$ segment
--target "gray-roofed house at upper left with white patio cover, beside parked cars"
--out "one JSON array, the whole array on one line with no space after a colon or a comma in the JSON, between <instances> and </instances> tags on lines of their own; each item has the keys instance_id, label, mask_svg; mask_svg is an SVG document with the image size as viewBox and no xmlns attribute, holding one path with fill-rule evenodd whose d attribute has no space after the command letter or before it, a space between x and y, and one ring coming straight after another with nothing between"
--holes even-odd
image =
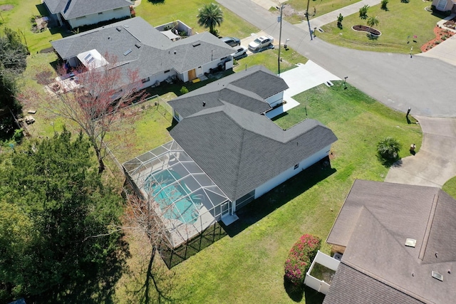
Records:
<instances>
[{"instance_id":1,"label":"gray-roofed house at upper left with white patio cover, beside parked cars","mask_svg":"<svg viewBox=\"0 0 456 304\"><path fill-rule=\"evenodd\" d=\"M174 78L187 82L215 68L232 68L233 64L233 49L211 33L170 39L140 17L52 41L51 44L58 56L72 67L86 65L90 68L93 62L103 64L105 54L115 56L118 68L125 75L129 70L138 70L142 88Z\"/></svg>"}]
</instances>

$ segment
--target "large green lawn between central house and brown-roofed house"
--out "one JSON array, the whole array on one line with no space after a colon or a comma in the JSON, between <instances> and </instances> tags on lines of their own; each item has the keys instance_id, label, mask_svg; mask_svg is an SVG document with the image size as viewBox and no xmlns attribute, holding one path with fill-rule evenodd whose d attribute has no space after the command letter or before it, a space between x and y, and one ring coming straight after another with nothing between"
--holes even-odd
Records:
<instances>
[{"instance_id":1,"label":"large green lawn between central house and brown-roofed house","mask_svg":"<svg viewBox=\"0 0 456 304\"><path fill-rule=\"evenodd\" d=\"M422 136L420 126L409 125L404 113L390 110L351 86L343 90L341 82L335 84L296 95L302 105L275 121L280 127L291 127L311 117L331 127L338 136L331 149L332 168L317 165L311 172L301 172L239 210L239 220L226 229L229 236L178 264L171 269L172 275L159 282L172 285L165 294L168 299L180 303L321 303L323 297L311 290L297 299L286 293L284 261L289 249L305 233L326 239L354 179L384 180L388 167L377 158L378 140L393 136L407 147L410 142L421 142ZM402 157L408 153L404 150ZM321 251L329 250L323 244ZM119 293L125 293L125 287L120 289ZM119 298L118 303L128 300Z\"/></svg>"}]
</instances>

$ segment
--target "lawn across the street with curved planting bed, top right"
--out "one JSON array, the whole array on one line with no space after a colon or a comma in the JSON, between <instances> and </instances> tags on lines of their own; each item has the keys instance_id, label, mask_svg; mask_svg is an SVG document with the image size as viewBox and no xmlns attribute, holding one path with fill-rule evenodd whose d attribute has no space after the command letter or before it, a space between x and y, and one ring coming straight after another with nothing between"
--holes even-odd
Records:
<instances>
[{"instance_id":1,"label":"lawn across the street with curved planting bed, top right","mask_svg":"<svg viewBox=\"0 0 456 304\"><path fill-rule=\"evenodd\" d=\"M322 26L325 32L318 33L318 37L328 43L363 51L410 53L413 47L412 53L420 53L420 47L435 38L433 28L442 19L425 11L429 5L427 1L390 1L388 11L380 9L380 4L372 6L368 9L368 16L377 16L379 23L374 28L381 32L381 36L375 39L368 38L366 32L351 28L366 26L366 20L360 19L358 12L343 16L343 29L337 27L337 21Z\"/></svg>"}]
</instances>

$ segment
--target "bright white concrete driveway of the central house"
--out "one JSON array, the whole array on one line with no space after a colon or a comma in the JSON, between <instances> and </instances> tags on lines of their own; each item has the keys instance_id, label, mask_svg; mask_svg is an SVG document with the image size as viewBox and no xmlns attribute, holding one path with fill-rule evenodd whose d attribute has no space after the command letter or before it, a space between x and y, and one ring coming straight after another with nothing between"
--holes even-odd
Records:
<instances>
[{"instance_id":1,"label":"bright white concrete driveway of the central house","mask_svg":"<svg viewBox=\"0 0 456 304\"><path fill-rule=\"evenodd\" d=\"M266 117L268 118L276 117L277 115L298 106L299 103L294 100L292 96L298 95L299 93L323 83L330 85L331 81L341 80L341 78L328 72L328 70L321 68L321 66L314 63L314 61L307 61L305 64L297 63L296 68L281 73L280 77L285 80L286 84L289 86L284 92L284 101L286 101L286 103L274 110L266 112Z\"/></svg>"}]
</instances>

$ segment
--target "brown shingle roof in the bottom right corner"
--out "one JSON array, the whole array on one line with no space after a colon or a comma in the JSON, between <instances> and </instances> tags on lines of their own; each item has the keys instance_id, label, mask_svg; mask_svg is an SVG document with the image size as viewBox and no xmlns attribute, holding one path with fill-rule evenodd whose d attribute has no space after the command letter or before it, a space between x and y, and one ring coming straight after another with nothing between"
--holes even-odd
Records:
<instances>
[{"instance_id":1,"label":"brown shingle roof in the bottom right corner","mask_svg":"<svg viewBox=\"0 0 456 304\"><path fill-rule=\"evenodd\" d=\"M324 303L343 303L363 288L415 299L375 303L453 303L456 278L447 271L456 266L455 212L455 199L439 188L356 180L327 239L346 246L341 265L353 271L338 269ZM415 247L405 246L408 238ZM356 280L364 285L347 283Z\"/></svg>"}]
</instances>

